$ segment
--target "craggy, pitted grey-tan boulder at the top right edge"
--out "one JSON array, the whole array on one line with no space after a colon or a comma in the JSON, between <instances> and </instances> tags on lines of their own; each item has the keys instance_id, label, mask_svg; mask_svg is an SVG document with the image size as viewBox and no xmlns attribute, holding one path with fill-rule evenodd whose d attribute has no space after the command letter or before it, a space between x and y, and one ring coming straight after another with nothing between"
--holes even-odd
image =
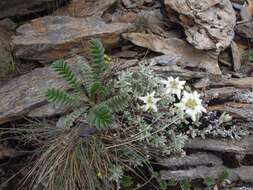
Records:
<instances>
[{"instance_id":1,"label":"craggy, pitted grey-tan boulder at the top right edge","mask_svg":"<svg viewBox=\"0 0 253 190\"><path fill-rule=\"evenodd\" d=\"M234 38L235 12L229 0L164 0L168 17L182 25L198 49L223 50Z\"/></svg>"}]
</instances>

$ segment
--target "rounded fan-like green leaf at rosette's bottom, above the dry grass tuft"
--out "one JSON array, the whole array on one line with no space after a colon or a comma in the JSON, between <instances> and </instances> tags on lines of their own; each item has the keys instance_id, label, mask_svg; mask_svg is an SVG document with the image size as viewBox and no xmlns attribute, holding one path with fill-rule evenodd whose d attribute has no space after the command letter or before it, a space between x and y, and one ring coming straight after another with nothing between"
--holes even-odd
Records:
<instances>
[{"instance_id":1,"label":"rounded fan-like green leaf at rosette's bottom, above the dry grass tuft","mask_svg":"<svg viewBox=\"0 0 253 190\"><path fill-rule=\"evenodd\" d=\"M91 109L88 115L88 122L90 125L95 125L97 129L105 129L112 124L112 113L106 104L96 105Z\"/></svg>"}]
</instances>

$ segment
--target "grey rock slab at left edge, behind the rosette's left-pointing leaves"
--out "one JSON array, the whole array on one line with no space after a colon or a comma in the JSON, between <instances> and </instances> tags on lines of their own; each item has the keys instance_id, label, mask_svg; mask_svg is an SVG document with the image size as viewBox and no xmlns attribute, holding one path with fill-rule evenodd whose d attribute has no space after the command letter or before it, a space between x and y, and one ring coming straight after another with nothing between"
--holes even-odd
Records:
<instances>
[{"instance_id":1,"label":"grey rock slab at left edge, behind the rosette's left-pointing leaves","mask_svg":"<svg viewBox=\"0 0 253 190\"><path fill-rule=\"evenodd\" d=\"M86 60L76 56L66 61L78 75L77 64ZM47 105L45 92L49 88L70 89L51 67L35 69L0 86L0 124L29 114L45 117L59 113L58 108Z\"/></svg>"}]
</instances>

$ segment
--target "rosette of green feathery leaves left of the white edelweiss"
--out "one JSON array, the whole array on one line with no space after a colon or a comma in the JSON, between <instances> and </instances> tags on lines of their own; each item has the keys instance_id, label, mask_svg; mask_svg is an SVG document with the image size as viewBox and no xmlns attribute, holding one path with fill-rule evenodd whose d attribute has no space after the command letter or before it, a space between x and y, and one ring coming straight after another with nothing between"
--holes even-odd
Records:
<instances>
[{"instance_id":1,"label":"rosette of green feathery leaves left of the white edelweiss","mask_svg":"<svg viewBox=\"0 0 253 190\"><path fill-rule=\"evenodd\" d=\"M79 80L64 60L53 63L54 71L72 88L73 93L61 89L49 89L47 100L51 103L69 106L73 112L66 116L65 127L72 127L78 118L96 129L106 129L113 123L115 113L128 105L125 95L115 94L113 80L108 80L110 59L98 39L90 40L90 64L81 63L82 79Z\"/></svg>"}]
</instances>

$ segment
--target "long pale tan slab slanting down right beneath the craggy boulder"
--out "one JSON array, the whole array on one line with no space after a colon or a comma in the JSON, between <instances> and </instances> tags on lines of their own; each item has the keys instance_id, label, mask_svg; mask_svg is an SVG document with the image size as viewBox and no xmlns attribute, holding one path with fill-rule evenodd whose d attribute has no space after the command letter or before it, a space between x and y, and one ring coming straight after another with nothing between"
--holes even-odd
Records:
<instances>
[{"instance_id":1,"label":"long pale tan slab slanting down right beneath the craggy boulder","mask_svg":"<svg viewBox=\"0 0 253 190\"><path fill-rule=\"evenodd\" d=\"M197 50L179 38L161 38L143 33L125 33L123 37L135 45L167 55L167 64L202 68L212 74L221 74L218 55L210 51ZM165 60L164 60L165 62Z\"/></svg>"}]
</instances>

